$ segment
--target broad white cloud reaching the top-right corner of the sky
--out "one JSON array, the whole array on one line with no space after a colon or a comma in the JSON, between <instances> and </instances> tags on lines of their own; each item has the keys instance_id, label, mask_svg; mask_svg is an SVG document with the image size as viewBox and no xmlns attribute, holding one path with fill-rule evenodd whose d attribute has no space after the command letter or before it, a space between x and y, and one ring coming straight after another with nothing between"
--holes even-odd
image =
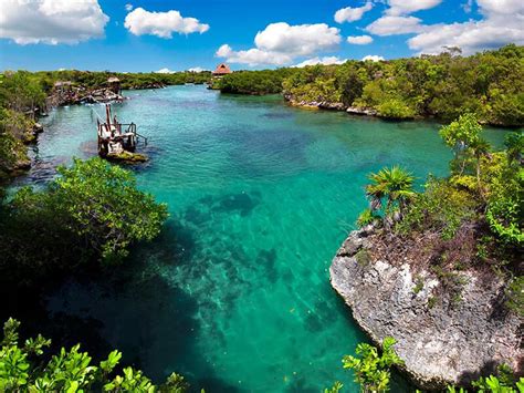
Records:
<instances>
[{"instance_id":1,"label":"broad white cloud reaching the top-right corner of the sky","mask_svg":"<svg viewBox=\"0 0 524 393\"><path fill-rule=\"evenodd\" d=\"M459 46L464 54L507 43L524 44L524 1L478 0L483 20L433 24L408 40L419 53L440 53L442 46Z\"/></svg>"}]
</instances>

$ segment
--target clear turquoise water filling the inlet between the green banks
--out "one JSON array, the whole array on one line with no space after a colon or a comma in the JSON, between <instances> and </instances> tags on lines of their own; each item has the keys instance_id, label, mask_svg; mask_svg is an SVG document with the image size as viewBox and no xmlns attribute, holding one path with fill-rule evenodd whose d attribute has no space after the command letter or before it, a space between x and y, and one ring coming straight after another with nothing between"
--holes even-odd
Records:
<instances>
[{"instance_id":1,"label":"clear turquoise water filling the inlet between the green banks","mask_svg":"<svg viewBox=\"0 0 524 393\"><path fill-rule=\"evenodd\" d=\"M339 380L356 392L340 359L366 339L331 289L328 266L366 207L369 172L400 164L420 183L447 173L438 126L202 86L128 95L114 105L119 120L149 136L139 187L171 217L116 272L69 281L49 312L66 316L76 335L96 332L104 350L120 349L157 381L177 371L209 392L319 392ZM21 182L42 184L56 164L94 155L94 111L103 106L46 117ZM503 133L486 136L500 144Z\"/></svg>"}]
</instances>

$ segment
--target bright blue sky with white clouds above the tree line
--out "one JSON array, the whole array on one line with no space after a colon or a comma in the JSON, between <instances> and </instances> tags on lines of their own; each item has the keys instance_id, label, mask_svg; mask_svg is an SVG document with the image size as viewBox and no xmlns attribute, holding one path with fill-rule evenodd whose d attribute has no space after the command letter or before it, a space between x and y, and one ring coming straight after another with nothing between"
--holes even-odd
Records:
<instances>
[{"instance_id":1,"label":"bright blue sky with white clouds above the tree line","mask_svg":"<svg viewBox=\"0 0 524 393\"><path fill-rule=\"evenodd\" d=\"M0 0L0 6L1 70L178 71L212 69L221 61L233 70L262 69L395 59L436 53L442 45L469 54L524 43L522 0L31 0L29 6Z\"/></svg>"}]
</instances>

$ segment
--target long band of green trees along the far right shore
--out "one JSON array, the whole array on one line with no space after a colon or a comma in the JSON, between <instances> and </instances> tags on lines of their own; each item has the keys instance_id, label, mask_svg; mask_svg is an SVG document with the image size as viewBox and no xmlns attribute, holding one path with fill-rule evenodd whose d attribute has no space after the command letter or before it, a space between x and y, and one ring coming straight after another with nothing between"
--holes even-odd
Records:
<instances>
[{"instance_id":1,"label":"long band of green trees along the far right shore","mask_svg":"<svg viewBox=\"0 0 524 393\"><path fill-rule=\"evenodd\" d=\"M483 123L523 125L524 46L467 58L458 53L233 73L219 86L228 93L282 92L295 103L342 104L389 118L452 120L473 113Z\"/></svg>"}]
</instances>

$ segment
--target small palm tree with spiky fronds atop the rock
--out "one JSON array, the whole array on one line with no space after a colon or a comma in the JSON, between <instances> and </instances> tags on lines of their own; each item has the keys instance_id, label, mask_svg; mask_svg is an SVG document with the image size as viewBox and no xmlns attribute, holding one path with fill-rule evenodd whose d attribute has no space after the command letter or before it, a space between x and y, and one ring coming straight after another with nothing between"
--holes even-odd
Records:
<instances>
[{"instance_id":1,"label":"small palm tree with spiky fronds atop the rock","mask_svg":"<svg viewBox=\"0 0 524 393\"><path fill-rule=\"evenodd\" d=\"M370 199L371 210L380 209L382 199L386 198L386 215L395 204L398 204L401 214L408 200L415 195L412 189L415 177L399 166L382 168L376 174L370 174L369 179L371 184L366 186L366 195Z\"/></svg>"}]
</instances>

